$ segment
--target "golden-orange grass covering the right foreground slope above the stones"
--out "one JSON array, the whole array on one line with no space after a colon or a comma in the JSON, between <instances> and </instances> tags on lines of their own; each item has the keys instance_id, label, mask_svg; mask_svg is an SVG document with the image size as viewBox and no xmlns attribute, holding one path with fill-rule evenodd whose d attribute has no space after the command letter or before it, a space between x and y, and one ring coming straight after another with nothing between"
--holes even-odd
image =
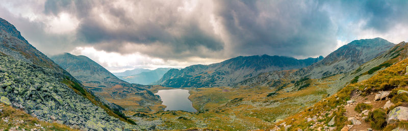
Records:
<instances>
[{"instance_id":1,"label":"golden-orange grass covering the right foreground slope above the stones","mask_svg":"<svg viewBox=\"0 0 408 131\"><path fill-rule=\"evenodd\" d=\"M335 108L339 110L343 109L341 105L345 104L345 102L350 99L351 91L356 90L356 89L359 89L360 91L362 91L363 96L371 92L391 90L392 91L390 95L390 97L392 97L391 100L394 100L394 102L398 102L397 104L399 106L406 105L407 101L404 101L403 98L399 98L399 99L396 98L396 97L402 97L402 95L397 95L396 92L401 89L406 90L406 86L408 82L407 81L408 75L405 75L405 72L406 72L405 69L406 69L406 66L408 66L407 63L408 63L408 59L404 59L386 68L385 70L378 71L375 75L373 75L368 80L362 81L360 83L347 85L335 95L327 97L317 102L316 104L314 104L314 106L303 110L303 112L290 116L287 119L281 122L278 122L277 124L286 122L286 124L292 125L290 129L297 129L297 128L304 129L308 127L311 123L311 122L306 121L306 118L308 116L313 116L315 114L322 113L324 111L330 111ZM388 109L387 112L392 110L395 107L396 106ZM342 125L347 124L347 121L339 120L339 121L336 121L336 124L337 126L340 127L340 128L336 128L336 130L340 130ZM395 125L398 125L398 124L404 125L403 122L397 123ZM389 128L391 127L386 127L385 129L389 129Z\"/></svg>"}]
</instances>

